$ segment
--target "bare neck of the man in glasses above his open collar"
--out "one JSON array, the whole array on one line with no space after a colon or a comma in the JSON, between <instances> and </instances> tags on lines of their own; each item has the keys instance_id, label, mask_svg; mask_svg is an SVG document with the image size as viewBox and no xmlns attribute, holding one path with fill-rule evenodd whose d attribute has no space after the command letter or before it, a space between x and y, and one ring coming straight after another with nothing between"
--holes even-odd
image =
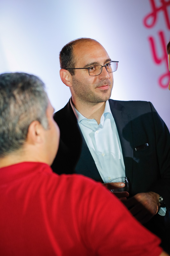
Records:
<instances>
[{"instance_id":1,"label":"bare neck of the man in glasses above his open collar","mask_svg":"<svg viewBox=\"0 0 170 256\"><path fill-rule=\"evenodd\" d=\"M74 107L80 112L83 116L85 116L88 119L95 119L98 124L100 124L101 116L105 110L106 102L100 102L100 103L83 103L72 100L72 103Z\"/></svg>"}]
</instances>

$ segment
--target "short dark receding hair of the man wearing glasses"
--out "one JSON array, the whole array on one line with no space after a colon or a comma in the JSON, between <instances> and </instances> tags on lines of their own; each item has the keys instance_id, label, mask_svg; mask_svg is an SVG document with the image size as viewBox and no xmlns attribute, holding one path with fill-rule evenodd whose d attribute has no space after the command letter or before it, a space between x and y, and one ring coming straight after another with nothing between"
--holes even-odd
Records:
<instances>
[{"instance_id":1,"label":"short dark receding hair of the man wearing glasses","mask_svg":"<svg viewBox=\"0 0 170 256\"><path fill-rule=\"evenodd\" d=\"M64 47L62 48L62 50L60 52L60 67L64 68L64 69L75 68L76 60L75 60L75 57L73 54L73 48L77 43L87 42L87 41L96 41L96 40L94 40L92 38L81 37L81 38L75 39L75 40L71 41L70 43L64 45ZM72 76L75 75L74 69L69 70L69 72Z\"/></svg>"}]
</instances>

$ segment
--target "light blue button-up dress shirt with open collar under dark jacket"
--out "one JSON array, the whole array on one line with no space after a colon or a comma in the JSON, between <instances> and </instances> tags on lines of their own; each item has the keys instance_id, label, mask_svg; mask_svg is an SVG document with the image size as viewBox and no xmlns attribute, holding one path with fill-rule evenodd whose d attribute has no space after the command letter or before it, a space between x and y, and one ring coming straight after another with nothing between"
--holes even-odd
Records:
<instances>
[{"instance_id":1,"label":"light blue button-up dress shirt with open collar under dark jacket","mask_svg":"<svg viewBox=\"0 0 170 256\"><path fill-rule=\"evenodd\" d=\"M104 183L125 176L121 143L108 100L99 125L95 119L81 115L71 100L70 103Z\"/></svg>"}]
</instances>

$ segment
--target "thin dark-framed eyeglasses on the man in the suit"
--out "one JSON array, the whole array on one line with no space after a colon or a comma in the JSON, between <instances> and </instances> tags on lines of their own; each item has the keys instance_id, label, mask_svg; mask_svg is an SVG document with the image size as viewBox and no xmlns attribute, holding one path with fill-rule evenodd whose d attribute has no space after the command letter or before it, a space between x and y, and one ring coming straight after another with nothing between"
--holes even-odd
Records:
<instances>
[{"instance_id":1,"label":"thin dark-framed eyeglasses on the man in the suit","mask_svg":"<svg viewBox=\"0 0 170 256\"><path fill-rule=\"evenodd\" d=\"M112 73L115 72L118 68L118 62L119 61L111 61L109 63L106 63L104 66L101 65L93 65L88 68L67 68L69 69L88 69L89 70L89 76L99 76L101 74L102 68L105 67L107 72Z\"/></svg>"}]
</instances>

